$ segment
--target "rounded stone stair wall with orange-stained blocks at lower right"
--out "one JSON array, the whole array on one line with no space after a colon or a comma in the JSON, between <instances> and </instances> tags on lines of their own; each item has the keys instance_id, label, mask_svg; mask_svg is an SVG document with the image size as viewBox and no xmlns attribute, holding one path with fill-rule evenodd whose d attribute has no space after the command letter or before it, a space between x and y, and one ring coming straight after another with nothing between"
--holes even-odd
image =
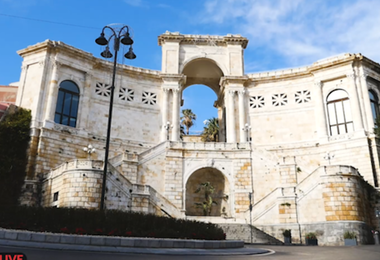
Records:
<instances>
[{"instance_id":1,"label":"rounded stone stair wall with orange-stained blocks at lower right","mask_svg":"<svg viewBox=\"0 0 380 260\"><path fill-rule=\"evenodd\" d=\"M297 186L279 189L277 196L254 205L253 223L280 240L282 232L291 229L294 243L303 243L306 233L315 232L320 245L343 245L343 233L353 231L359 244L367 244L370 227L377 225L376 206L370 203L375 194L353 167L320 167ZM269 224L268 218L277 224Z\"/></svg>"}]
</instances>

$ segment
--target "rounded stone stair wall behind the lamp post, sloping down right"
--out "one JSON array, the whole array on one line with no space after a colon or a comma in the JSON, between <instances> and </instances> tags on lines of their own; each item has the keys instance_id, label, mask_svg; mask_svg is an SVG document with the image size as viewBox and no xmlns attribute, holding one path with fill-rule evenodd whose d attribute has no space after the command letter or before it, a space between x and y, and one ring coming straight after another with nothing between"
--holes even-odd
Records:
<instances>
[{"instance_id":1,"label":"rounded stone stair wall behind the lamp post, sloping down right","mask_svg":"<svg viewBox=\"0 0 380 260\"><path fill-rule=\"evenodd\" d=\"M73 160L61 165L45 176L42 206L98 209L102 175L102 161ZM183 217L182 212L154 188L132 184L110 164L104 199L107 209Z\"/></svg>"}]
</instances>

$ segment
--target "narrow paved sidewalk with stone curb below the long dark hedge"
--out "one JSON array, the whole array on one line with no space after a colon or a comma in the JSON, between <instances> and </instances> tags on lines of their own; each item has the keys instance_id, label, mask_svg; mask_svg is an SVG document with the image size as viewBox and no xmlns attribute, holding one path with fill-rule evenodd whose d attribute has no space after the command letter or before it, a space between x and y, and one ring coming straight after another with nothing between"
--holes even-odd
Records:
<instances>
[{"instance_id":1,"label":"narrow paved sidewalk with stone curb below the long dark hedge","mask_svg":"<svg viewBox=\"0 0 380 260\"><path fill-rule=\"evenodd\" d=\"M135 247L112 247L112 246L90 246L70 245L56 243L42 243L30 241L17 241L0 239L0 245L29 247L55 250L75 250L107 253L131 253L131 254L154 254L154 255L267 255L274 251L262 248L234 248L234 249L190 249L190 248L135 248Z\"/></svg>"}]
</instances>

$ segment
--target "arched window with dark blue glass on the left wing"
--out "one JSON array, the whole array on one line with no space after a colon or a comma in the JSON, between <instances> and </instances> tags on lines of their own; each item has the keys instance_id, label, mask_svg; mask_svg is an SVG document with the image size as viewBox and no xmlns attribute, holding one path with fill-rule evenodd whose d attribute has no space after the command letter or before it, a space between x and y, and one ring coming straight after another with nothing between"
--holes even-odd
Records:
<instances>
[{"instance_id":1,"label":"arched window with dark blue glass on the left wing","mask_svg":"<svg viewBox=\"0 0 380 260\"><path fill-rule=\"evenodd\" d=\"M59 85L54 122L75 127L77 124L79 88L72 81L62 81Z\"/></svg>"}]
</instances>

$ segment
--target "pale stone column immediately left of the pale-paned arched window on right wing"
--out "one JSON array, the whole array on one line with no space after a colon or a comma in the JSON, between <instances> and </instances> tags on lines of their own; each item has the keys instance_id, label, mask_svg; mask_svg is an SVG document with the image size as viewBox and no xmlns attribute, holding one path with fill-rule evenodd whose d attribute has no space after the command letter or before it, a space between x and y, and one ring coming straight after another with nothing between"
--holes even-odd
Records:
<instances>
[{"instance_id":1,"label":"pale stone column immediately left of the pale-paned arched window on right wing","mask_svg":"<svg viewBox=\"0 0 380 260\"><path fill-rule=\"evenodd\" d=\"M326 118L326 111L325 111L325 100L323 98L323 89L322 89L322 82L316 81L314 82L314 91L315 91L315 98L316 98L316 109L314 110L315 114L315 120L316 120L316 127L318 132L319 138L326 138L329 135L328 130L328 122Z\"/></svg>"}]
</instances>

